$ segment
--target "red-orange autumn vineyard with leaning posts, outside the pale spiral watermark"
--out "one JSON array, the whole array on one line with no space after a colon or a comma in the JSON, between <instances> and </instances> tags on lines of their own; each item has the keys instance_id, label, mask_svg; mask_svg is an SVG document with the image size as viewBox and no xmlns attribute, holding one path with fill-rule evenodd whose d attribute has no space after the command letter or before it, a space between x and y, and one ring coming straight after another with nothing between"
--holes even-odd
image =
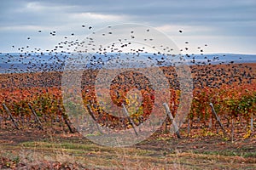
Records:
<instances>
[{"instance_id":1,"label":"red-orange autumn vineyard with leaning posts, outside the pale spiral watermark","mask_svg":"<svg viewBox=\"0 0 256 170\"><path fill-rule=\"evenodd\" d=\"M230 142L245 139L255 141L256 67L252 69L245 65L218 65L218 68L214 68L214 65L192 67L193 100L185 122L179 129L182 139L221 137L224 141ZM237 74L230 76L230 72L233 71L230 69L234 68ZM169 89L171 100L168 105L175 116L181 92L173 68L161 69L171 84ZM219 74L221 71L225 71L226 74ZM251 74L250 77L247 77L248 73ZM92 115L100 126L113 129L131 128L128 117L119 119L109 115L99 105L94 90L96 75L97 71L84 72L84 82L81 83L84 105L90 105ZM1 132L12 129L26 132L29 129L34 133L40 131L51 134L77 133L65 113L60 83L61 72L1 75ZM142 94L141 105L137 102L137 96L129 94L133 88L137 88ZM154 104L155 92L142 75L135 72L119 75L110 89L115 105L125 104L128 109L129 105L138 106L137 112L130 116L135 126L148 119ZM129 111L132 109L131 107ZM213 114L214 112L216 115ZM161 139L167 135L170 139L176 139L176 136L169 132L170 127L172 121L166 116L166 121L152 138Z\"/></svg>"}]
</instances>

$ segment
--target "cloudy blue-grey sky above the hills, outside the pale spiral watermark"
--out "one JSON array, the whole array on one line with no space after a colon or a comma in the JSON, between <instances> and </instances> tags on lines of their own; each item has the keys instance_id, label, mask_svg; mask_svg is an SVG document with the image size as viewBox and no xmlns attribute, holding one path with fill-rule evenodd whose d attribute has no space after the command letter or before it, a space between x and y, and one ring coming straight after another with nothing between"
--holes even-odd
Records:
<instances>
[{"instance_id":1,"label":"cloudy blue-grey sky above the hills, outside the pale spiral watermark","mask_svg":"<svg viewBox=\"0 0 256 170\"><path fill-rule=\"evenodd\" d=\"M88 26L137 23L165 33L188 53L204 47L205 54L256 54L255 16L255 0L8 0L0 3L0 52L26 45L45 51L64 37L82 40Z\"/></svg>"}]
</instances>

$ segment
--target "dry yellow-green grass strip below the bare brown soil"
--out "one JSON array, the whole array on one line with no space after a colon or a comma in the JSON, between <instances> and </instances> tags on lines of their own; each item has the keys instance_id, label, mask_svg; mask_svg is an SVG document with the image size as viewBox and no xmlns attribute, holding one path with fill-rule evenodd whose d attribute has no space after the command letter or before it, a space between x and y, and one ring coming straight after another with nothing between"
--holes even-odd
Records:
<instances>
[{"instance_id":1,"label":"dry yellow-green grass strip below the bare brown soil","mask_svg":"<svg viewBox=\"0 0 256 170\"><path fill-rule=\"evenodd\" d=\"M143 150L135 147L111 148L73 141L23 142L0 145L1 156L29 166L44 166L45 162L79 165L89 169L237 169L256 166L253 157L198 154L192 150ZM42 164L43 163L43 164Z\"/></svg>"}]
</instances>

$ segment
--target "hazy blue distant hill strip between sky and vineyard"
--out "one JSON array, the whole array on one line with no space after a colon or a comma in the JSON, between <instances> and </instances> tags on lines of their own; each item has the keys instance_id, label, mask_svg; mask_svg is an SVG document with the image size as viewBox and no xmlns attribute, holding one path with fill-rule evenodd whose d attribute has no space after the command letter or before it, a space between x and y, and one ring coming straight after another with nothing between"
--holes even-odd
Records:
<instances>
[{"instance_id":1,"label":"hazy blue distant hill strip between sky and vineyard","mask_svg":"<svg viewBox=\"0 0 256 170\"><path fill-rule=\"evenodd\" d=\"M87 56L86 54L83 54ZM77 57L79 56L79 59ZM87 59L87 61L86 61ZM172 57L163 54L0 54L0 73L63 71L68 62L86 63L86 68L168 66L182 61L188 65L256 63L256 54L191 54Z\"/></svg>"}]
</instances>

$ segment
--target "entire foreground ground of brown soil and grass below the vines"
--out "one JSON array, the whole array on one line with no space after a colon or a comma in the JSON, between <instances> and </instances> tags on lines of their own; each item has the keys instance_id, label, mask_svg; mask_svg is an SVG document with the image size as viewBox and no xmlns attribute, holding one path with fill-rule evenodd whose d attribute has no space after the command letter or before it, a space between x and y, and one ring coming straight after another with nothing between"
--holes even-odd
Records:
<instances>
[{"instance_id":1,"label":"entire foreground ground of brown soil and grass below the vines","mask_svg":"<svg viewBox=\"0 0 256 170\"><path fill-rule=\"evenodd\" d=\"M11 130L0 133L0 167L31 169L255 169L256 136L231 142L222 135L154 133L142 143L113 148L79 133Z\"/></svg>"}]
</instances>

